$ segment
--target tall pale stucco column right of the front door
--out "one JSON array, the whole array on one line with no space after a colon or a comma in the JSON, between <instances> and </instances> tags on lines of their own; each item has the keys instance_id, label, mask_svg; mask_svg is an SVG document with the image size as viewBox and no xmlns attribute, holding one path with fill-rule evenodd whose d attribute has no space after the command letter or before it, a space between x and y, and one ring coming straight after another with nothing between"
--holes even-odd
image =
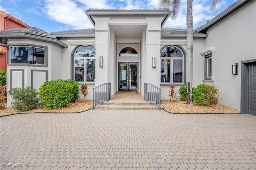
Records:
<instances>
[{"instance_id":1,"label":"tall pale stucco column right of the front door","mask_svg":"<svg viewBox=\"0 0 256 170\"><path fill-rule=\"evenodd\" d=\"M146 82L160 87L160 42L162 18L147 18L146 32L146 57L147 79ZM152 68L152 57L156 57L156 68Z\"/></svg>"}]
</instances>

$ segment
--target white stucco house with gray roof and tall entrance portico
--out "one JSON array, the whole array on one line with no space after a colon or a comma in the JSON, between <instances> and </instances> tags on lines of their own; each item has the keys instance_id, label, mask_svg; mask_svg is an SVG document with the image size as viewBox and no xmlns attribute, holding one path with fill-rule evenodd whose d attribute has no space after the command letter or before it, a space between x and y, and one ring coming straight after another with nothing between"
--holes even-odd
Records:
<instances>
[{"instance_id":1,"label":"white stucco house with gray roof and tall entrance portico","mask_svg":"<svg viewBox=\"0 0 256 170\"><path fill-rule=\"evenodd\" d=\"M193 86L214 84L219 104L256 115L256 2L236 1L194 30ZM186 84L186 30L163 28L165 9L88 9L93 29L46 33L36 27L1 31L8 48L8 90L56 79L92 88L111 83L111 95L144 94L144 83L161 88ZM10 98L8 104L10 105Z\"/></svg>"}]
</instances>

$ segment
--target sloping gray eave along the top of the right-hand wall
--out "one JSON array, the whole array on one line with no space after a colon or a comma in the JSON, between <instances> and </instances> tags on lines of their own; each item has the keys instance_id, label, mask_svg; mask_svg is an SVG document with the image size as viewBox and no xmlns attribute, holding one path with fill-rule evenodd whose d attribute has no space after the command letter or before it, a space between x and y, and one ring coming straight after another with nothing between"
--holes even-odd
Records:
<instances>
[{"instance_id":1,"label":"sloping gray eave along the top of the right-hand wall","mask_svg":"<svg viewBox=\"0 0 256 170\"><path fill-rule=\"evenodd\" d=\"M254 1L253 0L237 0L236 2L234 2L234 4L232 4L231 6L226 8L224 11L222 11L216 17L212 18L212 20L208 21L206 24L204 24L204 25L198 27L197 29L195 29L194 32L206 33L206 31L210 27L212 27L213 25L215 25L219 21L223 20L224 18L226 18L227 16L232 14L234 11L238 10L238 8L244 6L245 4L247 4L249 2L254 2Z\"/></svg>"}]
</instances>

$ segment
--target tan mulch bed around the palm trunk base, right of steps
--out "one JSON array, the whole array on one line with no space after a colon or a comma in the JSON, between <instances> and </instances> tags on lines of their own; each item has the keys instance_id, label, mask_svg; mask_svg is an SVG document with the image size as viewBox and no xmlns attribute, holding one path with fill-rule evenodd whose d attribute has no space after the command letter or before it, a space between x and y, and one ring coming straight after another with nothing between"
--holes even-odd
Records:
<instances>
[{"instance_id":1,"label":"tan mulch bed around the palm trunk base, right of steps","mask_svg":"<svg viewBox=\"0 0 256 170\"><path fill-rule=\"evenodd\" d=\"M186 104L181 100L161 100L164 110L170 113L241 113L237 109L232 109L221 104L211 106L199 106L196 104Z\"/></svg>"}]
</instances>

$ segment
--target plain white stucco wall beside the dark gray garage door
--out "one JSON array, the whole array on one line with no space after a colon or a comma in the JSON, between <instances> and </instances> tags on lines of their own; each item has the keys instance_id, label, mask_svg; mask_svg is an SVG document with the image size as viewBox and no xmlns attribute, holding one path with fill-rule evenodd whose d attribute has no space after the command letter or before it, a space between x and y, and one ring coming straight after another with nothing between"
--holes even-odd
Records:
<instances>
[{"instance_id":1,"label":"plain white stucco wall beside the dark gray garage door","mask_svg":"<svg viewBox=\"0 0 256 170\"><path fill-rule=\"evenodd\" d=\"M215 47L213 82L220 90L219 104L240 110L241 61L256 58L256 2L241 8L208 30L204 49ZM238 63L238 75L232 64Z\"/></svg>"}]
</instances>

